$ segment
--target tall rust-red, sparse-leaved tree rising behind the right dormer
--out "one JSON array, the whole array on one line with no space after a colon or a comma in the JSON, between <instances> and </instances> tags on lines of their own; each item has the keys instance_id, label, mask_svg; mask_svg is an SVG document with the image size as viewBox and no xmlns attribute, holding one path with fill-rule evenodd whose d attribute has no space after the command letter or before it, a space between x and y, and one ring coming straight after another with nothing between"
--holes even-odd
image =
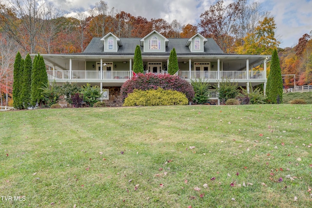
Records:
<instances>
[{"instance_id":1,"label":"tall rust-red, sparse-leaved tree rising behind the right dormer","mask_svg":"<svg viewBox=\"0 0 312 208\"><path fill-rule=\"evenodd\" d=\"M200 15L199 27L204 37L214 38L219 47L228 53L233 41L230 41L236 19L241 14L241 0L235 0L225 5L223 0L218 0L214 5Z\"/></svg>"}]
</instances>

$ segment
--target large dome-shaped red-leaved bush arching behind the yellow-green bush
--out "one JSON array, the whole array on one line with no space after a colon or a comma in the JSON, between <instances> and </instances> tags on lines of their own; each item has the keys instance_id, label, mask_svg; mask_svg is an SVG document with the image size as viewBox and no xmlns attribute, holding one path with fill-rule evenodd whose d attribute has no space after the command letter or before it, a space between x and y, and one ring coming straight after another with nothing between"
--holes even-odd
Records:
<instances>
[{"instance_id":1,"label":"large dome-shaped red-leaved bush arching behind the yellow-green bush","mask_svg":"<svg viewBox=\"0 0 312 208\"><path fill-rule=\"evenodd\" d=\"M179 76L169 74L154 75L153 73L148 73L146 75L138 73L137 76L133 76L123 83L120 93L122 98L125 99L134 89L156 90L159 87L164 90L176 90L177 92L181 92L186 95L189 101L192 101L195 94L191 83L181 79Z\"/></svg>"}]
</instances>

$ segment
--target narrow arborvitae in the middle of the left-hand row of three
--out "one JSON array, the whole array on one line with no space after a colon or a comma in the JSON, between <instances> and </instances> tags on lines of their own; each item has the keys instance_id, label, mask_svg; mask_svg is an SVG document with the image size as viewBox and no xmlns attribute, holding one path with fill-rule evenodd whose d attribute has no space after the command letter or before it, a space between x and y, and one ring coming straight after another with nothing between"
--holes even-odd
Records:
<instances>
[{"instance_id":1,"label":"narrow arborvitae in the middle of the left-hand row of three","mask_svg":"<svg viewBox=\"0 0 312 208\"><path fill-rule=\"evenodd\" d=\"M30 55L27 54L24 61L23 82L20 95L23 107L25 109L31 106L31 71L32 61Z\"/></svg>"}]
</instances>

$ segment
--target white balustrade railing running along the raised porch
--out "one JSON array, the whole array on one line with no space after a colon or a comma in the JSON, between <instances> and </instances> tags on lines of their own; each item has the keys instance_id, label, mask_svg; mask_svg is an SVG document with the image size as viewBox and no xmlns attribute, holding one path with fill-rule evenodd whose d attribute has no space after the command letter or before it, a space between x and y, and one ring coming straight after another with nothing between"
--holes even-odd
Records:
<instances>
[{"instance_id":1,"label":"white balustrade railing running along the raised porch","mask_svg":"<svg viewBox=\"0 0 312 208\"><path fill-rule=\"evenodd\" d=\"M163 73L166 73L167 71L163 71ZM144 74L146 74L147 71L144 71ZM72 71L72 74L70 76L70 71L65 70L47 70L48 79L56 81L67 81L70 80L70 77L73 80L78 81L92 81L95 80L96 82L99 82L101 80L103 81L116 81L116 82L122 82L125 79L131 78L132 74L129 71L102 71L102 74L100 71ZM246 76L246 71L220 71L219 76L217 71L178 71L178 76L180 76L182 79L202 79L202 80L208 80L216 82L218 80L222 79L230 79L230 80L242 80L246 81L249 80L257 80L257 79L265 79L264 71L249 71L249 76ZM298 86L299 87L299 86ZM299 89L298 89L299 90ZM312 87L311 87L312 90Z\"/></svg>"}]
</instances>

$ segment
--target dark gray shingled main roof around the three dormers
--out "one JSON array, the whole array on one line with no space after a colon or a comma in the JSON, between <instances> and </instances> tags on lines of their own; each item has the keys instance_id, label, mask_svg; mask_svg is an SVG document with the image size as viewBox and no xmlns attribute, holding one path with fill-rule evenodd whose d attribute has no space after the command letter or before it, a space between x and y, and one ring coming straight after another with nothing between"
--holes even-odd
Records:
<instances>
[{"instance_id":1,"label":"dark gray shingled main roof around the three dormers","mask_svg":"<svg viewBox=\"0 0 312 208\"><path fill-rule=\"evenodd\" d=\"M140 45L141 38L120 38L122 46L119 47L118 52L104 52L103 41L101 38L93 38L87 48L81 55L134 55L137 45ZM189 38L168 38L169 43L166 47L166 52L143 52L141 47L142 56L169 56L173 48L176 49L177 56L188 55L224 55L223 51L216 44L213 38L207 38L208 41L204 45L204 52L194 53L191 52L189 47L185 46Z\"/></svg>"}]
</instances>

